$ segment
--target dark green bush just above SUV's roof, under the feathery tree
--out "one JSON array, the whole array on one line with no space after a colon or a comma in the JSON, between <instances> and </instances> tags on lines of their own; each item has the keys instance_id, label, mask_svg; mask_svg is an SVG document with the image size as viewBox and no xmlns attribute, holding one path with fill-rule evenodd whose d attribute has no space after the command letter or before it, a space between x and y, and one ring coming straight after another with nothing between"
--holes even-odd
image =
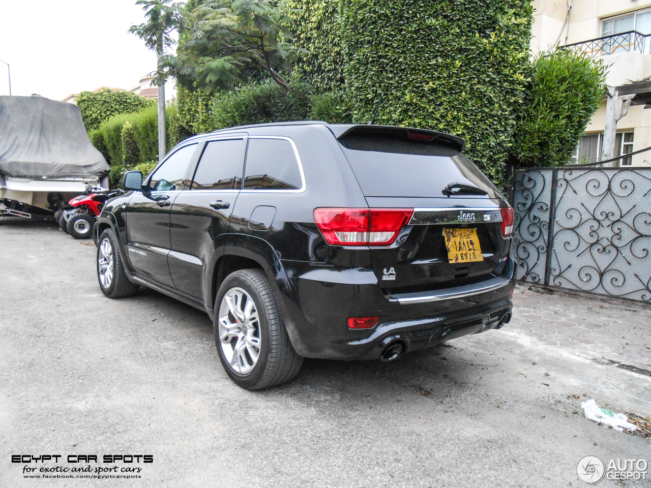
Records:
<instances>
[{"instance_id":1,"label":"dark green bush just above SUV's roof, under the feathery tree","mask_svg":"<svg viewBox=\"0 0 651 488\"><path fill-rule=\"evenodd\" d=\"M276 83L266 81L215 96L214 128L306 120L310 112L310 87L296 81L290 87L290 92L285 92Z\"/></svg>"}]
</instances>

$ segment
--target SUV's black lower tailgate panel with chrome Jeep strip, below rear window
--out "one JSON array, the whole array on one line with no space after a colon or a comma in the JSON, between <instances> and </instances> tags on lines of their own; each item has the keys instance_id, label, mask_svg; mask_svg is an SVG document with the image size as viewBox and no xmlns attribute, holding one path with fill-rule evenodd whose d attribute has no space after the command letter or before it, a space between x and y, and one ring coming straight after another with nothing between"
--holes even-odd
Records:
<instances>
[{"instance_id":1,"label":"SUV's black lower tailgate panel with chrome Jeep strip, below rear window","mask_svg":"<svg viewBox=\"0 0 651 488\"><path fill-rule=\"evenodd\" d=\"M510 239L502 236L499 201L462 198L368 197L371 208L414 208L402 243L370 249L373 271L385 293L410 293L473 284L501 275ZM465 230L455 242L445 232ZM478 248L471 260L458 261L454 251L466 251L467 230L475 230ZM404 237L406 234L406 237ZM454 249L460 245L461 249ZM451 253L449 252L449 247ZM472 250L472 249L470 249ZM452 254L452 256L450 256ZM456 253L458 254L458 253ZM465 256L464 256L465 257ZM456 262L455 262L456 261Z\"/></svg>"}]
</instances>

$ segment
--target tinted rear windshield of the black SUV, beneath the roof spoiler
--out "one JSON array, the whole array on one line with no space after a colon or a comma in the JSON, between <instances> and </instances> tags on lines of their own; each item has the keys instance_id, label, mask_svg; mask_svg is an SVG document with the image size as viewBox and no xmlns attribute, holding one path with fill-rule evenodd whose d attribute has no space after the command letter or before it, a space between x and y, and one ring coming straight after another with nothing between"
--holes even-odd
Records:
<instances>
[{"instance_id":1,"label":"tinted rear windshield of the black SUV, beneath the roof spoiler","mask_svg":"<svg viewBox=\"0 0 651 488\"><path fill-rule=\"evenodd\" d=\"M444 198L449 183L464 183L487 191L488 198L501 198L472 161L448 144L370 133L339 142L366 197Z\"/></svg>"}]
</instances>

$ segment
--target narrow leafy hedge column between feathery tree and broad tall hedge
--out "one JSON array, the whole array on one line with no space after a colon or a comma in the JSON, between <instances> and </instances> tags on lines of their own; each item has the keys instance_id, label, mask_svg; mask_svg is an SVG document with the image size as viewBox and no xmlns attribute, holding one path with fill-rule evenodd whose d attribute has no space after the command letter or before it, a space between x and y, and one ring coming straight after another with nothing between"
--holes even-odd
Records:
<instances>
[{"instance_id":1,"label":"narrow leafy hedge column between feathery tree and broad tall hedge","mask_svg":"<svg viewBox=\"0 0 651 488\"><path fill-rule=\"evenodd\" d=\"M339 25L339 0L290 0L286 4L299 49L294 69L315 92L344 85L344 53Z\"/></svg>"}]
</instances>

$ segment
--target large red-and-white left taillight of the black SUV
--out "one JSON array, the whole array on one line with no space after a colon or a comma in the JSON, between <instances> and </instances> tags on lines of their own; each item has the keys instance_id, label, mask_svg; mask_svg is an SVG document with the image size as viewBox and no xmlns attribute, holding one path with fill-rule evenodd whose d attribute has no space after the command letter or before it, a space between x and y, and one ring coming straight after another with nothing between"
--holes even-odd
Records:
<instances>
[{"instance_id":1,"label":"large red-and-white left taillight of the black SUV","mask_svg":"<svg viewBox=\"0 0 651 488\"><path fill-rule=\"evenodd\" d=\"M316 208L314 222L331 245L388 246L412 214L413 208Z\"/></svg>"}]
</instances>

